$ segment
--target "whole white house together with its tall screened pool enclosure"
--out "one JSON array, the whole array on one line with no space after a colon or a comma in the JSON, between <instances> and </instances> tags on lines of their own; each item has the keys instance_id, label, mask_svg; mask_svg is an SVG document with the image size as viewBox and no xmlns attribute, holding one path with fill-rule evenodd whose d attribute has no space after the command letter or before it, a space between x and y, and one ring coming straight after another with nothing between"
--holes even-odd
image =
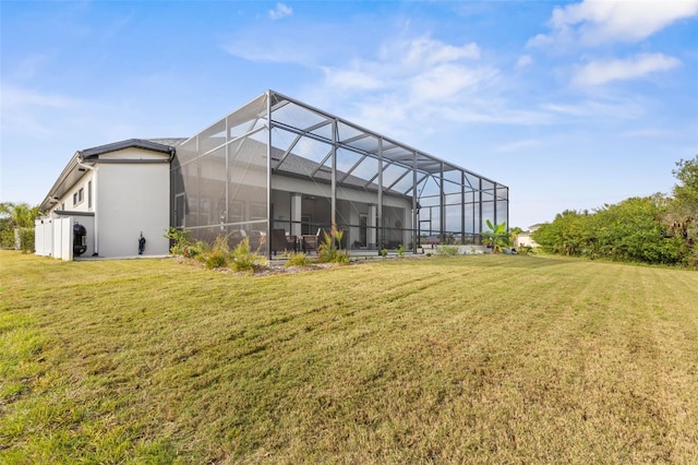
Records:
<instances>
[{"instance_id":1,"label":"whole white house together with its tall screened pool enclosure","mask_svg":"<svg viewBox=\"0 0 698 465\"><path fill-rule=\"evenodd\" d=\"M488 219L508 219L508 188L267 91L189 139L77 152L41 207L37 253L52 257L70 255L56 245L75 223L82 257L134 255L141 231L145 255L165 254L170 226L267 255L279 248L267 238L286 248L333 227L350 250L417 251L426 238L479 243Z\"/></svg>"}]
</instances>

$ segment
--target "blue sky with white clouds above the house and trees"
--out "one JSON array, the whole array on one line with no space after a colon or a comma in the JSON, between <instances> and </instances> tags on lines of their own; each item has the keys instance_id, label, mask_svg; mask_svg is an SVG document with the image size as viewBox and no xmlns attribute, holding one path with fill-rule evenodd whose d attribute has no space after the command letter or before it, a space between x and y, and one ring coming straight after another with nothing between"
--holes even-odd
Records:
<instances>
[{"instance_id":1,"label":"blue sky with white clouds above the house and trees","mask_svg":"<svg viewBox=\"0 0 698 465\"><path fill-rule=\"evenodd\" d=\"M670 193L698 0L0 0L0 201L75 151L191 136L273 88L510 188L510 225Z\"/></svg>"}]
</instances>

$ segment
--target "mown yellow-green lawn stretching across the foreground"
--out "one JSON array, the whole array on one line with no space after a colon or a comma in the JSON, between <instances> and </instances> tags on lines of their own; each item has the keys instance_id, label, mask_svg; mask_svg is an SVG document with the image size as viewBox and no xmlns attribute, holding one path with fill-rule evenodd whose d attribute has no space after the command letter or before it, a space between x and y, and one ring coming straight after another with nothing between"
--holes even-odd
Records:
<instances>
[{"instance_id":1,"label":"mown yellow-green lawn stretching across the foreground","mask_svg":"<svg viewBox=\"0 0 698 465\"><path fill-rule=\"evenodd\" d=\"M691 463L698 273L0 251L0 463Z\"/></svg>"}]
</instances>

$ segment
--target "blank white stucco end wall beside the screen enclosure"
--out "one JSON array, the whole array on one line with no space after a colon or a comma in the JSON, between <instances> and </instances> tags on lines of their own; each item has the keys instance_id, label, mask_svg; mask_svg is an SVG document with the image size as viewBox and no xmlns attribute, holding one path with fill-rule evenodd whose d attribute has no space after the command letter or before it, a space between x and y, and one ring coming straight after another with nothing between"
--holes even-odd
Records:
<instances>
[{"instance_id":1,"label":"blank white stucco end wall beside the screen enclosure","mask_svg":"<svg viewBox=\"0 0 698 465\"><path fill-rule=\"evenodd\" d=\"M99 164L97 234L99 257L134 257L139 236L144 255L169 253L169 164Z\"/></svg>"}]
</instances>

